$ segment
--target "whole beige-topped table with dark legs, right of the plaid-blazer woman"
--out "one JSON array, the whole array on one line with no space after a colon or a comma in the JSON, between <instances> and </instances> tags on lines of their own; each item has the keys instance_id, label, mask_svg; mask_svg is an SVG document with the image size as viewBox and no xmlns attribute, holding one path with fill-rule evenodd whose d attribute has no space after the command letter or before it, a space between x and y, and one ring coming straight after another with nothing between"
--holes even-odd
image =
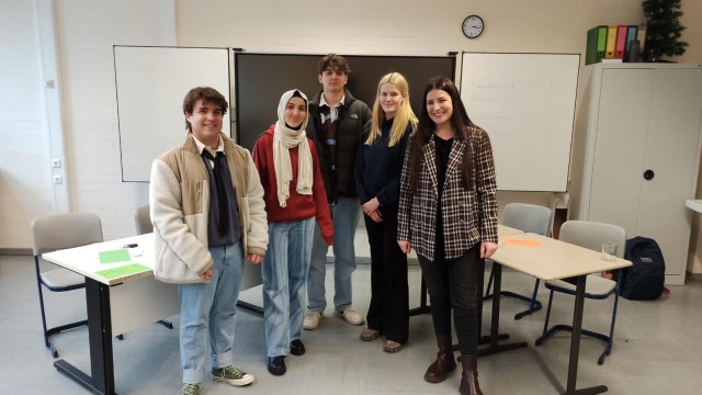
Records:
<instances>
[{"instance_id":1,"label":"whole beige-topped table with dark legs, right of the plaid-blazer woman","mask_svg":"<svg viewBox=\"0 0 702 395\"><path fill-rule=\"evenodd\" d=\"M490 342L487 349L482 350L480 356L526 346L525 342L509 345L498 345L497 342L499 340L499 291L502 266L533 275L543 281L573 278L576 283L576 296L573 315L573 334L570 337L568 381L565 394L601 394L607 392L608 388L604 385L576 390L585 283L587 275L590 273L626 268L632 266L632 262L621 258L605 261L599 251L532 233L501 236L500 246L495 255L490 257L490 260L494 262L495 268L495 297L492 298Z\"/></svg>"}]
</instances>

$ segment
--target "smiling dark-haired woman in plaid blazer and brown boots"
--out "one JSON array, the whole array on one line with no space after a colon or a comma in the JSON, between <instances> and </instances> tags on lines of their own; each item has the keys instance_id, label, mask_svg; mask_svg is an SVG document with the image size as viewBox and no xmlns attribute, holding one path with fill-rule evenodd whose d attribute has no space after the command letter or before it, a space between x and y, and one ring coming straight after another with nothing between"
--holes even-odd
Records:
<instances>
[{"instance_id":1,"label":"smiling dark-haired woman in plaid blazer and brown boots","mask_svg":"<svg viewBox=\"0 0 702 395\"><path fill-rule=\"evenodd\" d=\"M397 240L417 251L431 297L439 352L424 380L454 370L451 312L461 348L461 394L483 394L477 380L479 259L497 249L497 184L487 133L471 122L455 84L424 89L419 126L409 136L400 179Z\"/></svg>"}]
</instances>

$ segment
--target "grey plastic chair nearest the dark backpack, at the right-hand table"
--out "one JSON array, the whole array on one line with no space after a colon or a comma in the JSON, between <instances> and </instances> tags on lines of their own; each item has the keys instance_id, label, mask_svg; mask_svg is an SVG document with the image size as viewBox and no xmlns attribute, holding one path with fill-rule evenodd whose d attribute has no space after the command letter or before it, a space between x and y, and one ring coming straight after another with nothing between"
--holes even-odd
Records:
<instances>
[{"instance_id":1,"label":"grey plastic chair nearest the dark backpack, at the right-hand table","mask_svg":"<svg viewBox=\"0 0 702 395\"><path fill-rule=\"evenodd\" d=\"M570 242L576 246L585 247L591 250L601 251L602 242L612 241L616 245L614 256L624 257L624 249L626 248L626 232L624 228L603 223L596 223L589 221L568 221L561 227L559 239L562 241ZM564 262L567 264L567 262ZM612 351L612 337L614 336L614 323L616 320L616 305L619 303L619 284L622 276L622 271L616 271L616 281L604 279L598 274L589 274L585 283L585 297L591 300L605 300L612 294L614 295L614 308L612 309L612 323L610 325L609 336L598 334L591 330L582 329L581 334L590 336L596 339L607 342L604 352L598 359L598 364L604 363L604 358ZM567 279L566 279L567 280ZM573 331L570 325L554 325L548 329L548 318L551 315L551 303L553 302L553 293L561 292L568 295L575 295L575 284L564 281L546 281L546 289L551 290L548 296L548 307L546 308L546 319L544 321L544 331L539 339L536 339L536 346L542 345L548 337L558 330Z\"/></svg>"}]
</instances>

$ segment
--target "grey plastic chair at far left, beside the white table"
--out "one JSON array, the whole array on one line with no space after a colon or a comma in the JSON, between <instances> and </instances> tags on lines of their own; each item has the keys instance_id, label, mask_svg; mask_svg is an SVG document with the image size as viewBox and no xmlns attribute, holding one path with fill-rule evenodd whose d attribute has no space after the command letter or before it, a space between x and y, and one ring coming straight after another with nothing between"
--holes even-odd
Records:
<instances>
[{"instance_id":1,"label":"grey plastic chair at far left, beside the white table","mask_svg":"<svg viewBox=\"0 0 702 395\"><path fill-rule=\"evenodd\" d=\"M39 307L42 309L42 325L44 326L44 342L58 358L58 351L50 341L50 337L63 330L87 325L83 319L76 323L46 327L46 312L42 286L53 292L66 292L86 287L84 276L66 269L55 269L42 272L39 256L58 249L80 247L102 241L102 225L100 217L90 213L58 214L36 218L32 222L32 249L36 270L36 284L39 291Z\"/></svg>"}]
</instances>

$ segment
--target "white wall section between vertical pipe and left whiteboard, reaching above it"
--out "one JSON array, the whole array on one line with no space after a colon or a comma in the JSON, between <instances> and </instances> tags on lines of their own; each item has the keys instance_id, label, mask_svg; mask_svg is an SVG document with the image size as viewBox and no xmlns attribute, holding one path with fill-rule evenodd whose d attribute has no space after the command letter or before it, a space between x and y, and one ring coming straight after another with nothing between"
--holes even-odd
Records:
<instances>
[{"instance_id":1,"label":"white wall section between vertical pipe and left whiteboard, reaching above it","mask_svg":"<svg viewBox=\"0 0 702 395\"><path fill-rule=\"evenodd\" d=\"M167 29L173 22L162 18L172 19L170 7L140 0L55 2L71 210L100 215L105 239L133 235L134 210L148 204L148 184L122 182L112 46L174 44L174 31Z\"/></svg>"}]
</instances>

